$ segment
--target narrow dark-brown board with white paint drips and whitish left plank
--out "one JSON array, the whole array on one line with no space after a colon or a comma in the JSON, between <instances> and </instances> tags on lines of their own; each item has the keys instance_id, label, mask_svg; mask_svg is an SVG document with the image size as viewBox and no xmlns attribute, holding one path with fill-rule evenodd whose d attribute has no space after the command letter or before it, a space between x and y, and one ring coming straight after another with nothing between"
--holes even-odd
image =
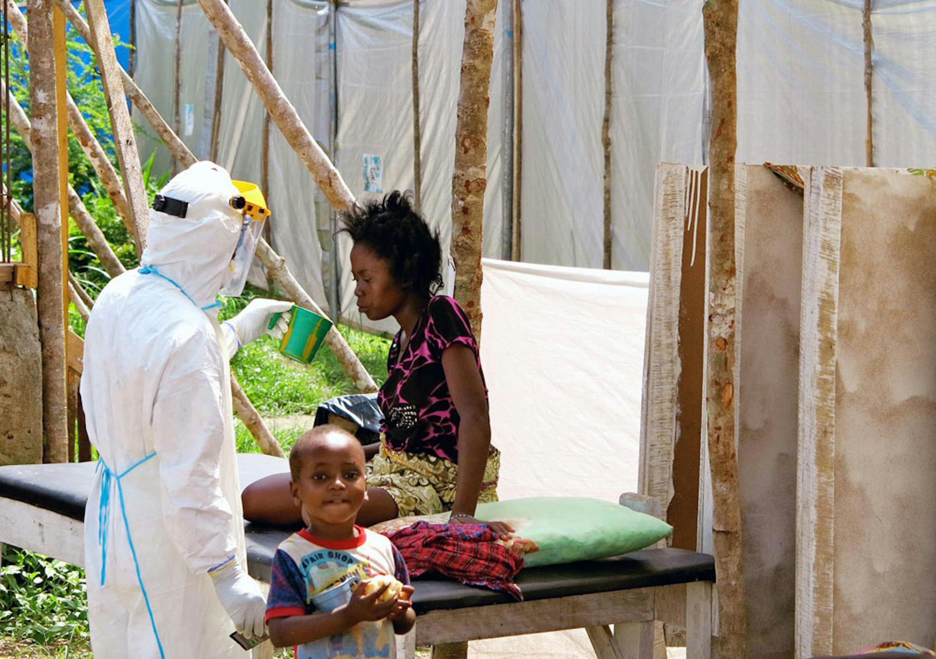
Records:
<instances>
[{"instance_id":1,"label":"narrow dark-brown board with white paint drips and whitish left plank","mask_svg":"<svg viewBox=\"0 0 936 659\"><path fill-rule=\"evenodd\" d=\"M695 549L698 498L705 322L703 179L702 171L685 165L661 163L657 168L640 424L639 491L660 501L665 519L678 527L674 546L682 549ZM697 296L683 295L684 290L697 291ZM686 447L693 459L684 463L695 470L695 481L680 472L680 484L687 487L677 491L674 461ZM680 540L687 531L689 545Z\"/></svg>"}]
</instances>

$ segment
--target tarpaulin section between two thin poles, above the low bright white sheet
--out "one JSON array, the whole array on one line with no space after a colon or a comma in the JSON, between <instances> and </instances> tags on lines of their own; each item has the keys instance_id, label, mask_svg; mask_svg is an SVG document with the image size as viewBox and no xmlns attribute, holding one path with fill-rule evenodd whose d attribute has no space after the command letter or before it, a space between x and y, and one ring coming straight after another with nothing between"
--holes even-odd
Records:
<instances>
[{"instance_id":1,"label":"tarpaulin section between two thin poles, above the low bright white sheet","mask_svg":"<svg viewBox=\"0 0 936 659\"><path fill-rule=\"evenodd\" d=\"M523 4L524 261L602 264L605 11L594 0Z\"/></svg>"}]
</instances>

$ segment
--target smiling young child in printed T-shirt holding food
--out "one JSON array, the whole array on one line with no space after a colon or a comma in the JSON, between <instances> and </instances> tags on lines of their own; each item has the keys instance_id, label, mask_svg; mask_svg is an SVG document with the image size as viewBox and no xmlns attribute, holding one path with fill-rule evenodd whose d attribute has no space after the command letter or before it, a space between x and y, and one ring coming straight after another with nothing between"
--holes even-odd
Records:
<instances>
[{"instance_id":1,"label":"smiling young child in printed T-shirt holding food","mask_svg":"<svg viewBox=\"0 0 936 659\"><path fill-rule=\"evenodd\" d=\"M367 498L358 440L337 426L318 426L293 447L289 470L307 528L287 537L273 558L267 603L273 645L297 646L297 659L393 657L393 634L416 622L413 588L400 552L355 524ZM400 593L385 597L392 588L385 584L367 594L367 581L378 575L402 582Z\"/></svg>"}]
</instances>

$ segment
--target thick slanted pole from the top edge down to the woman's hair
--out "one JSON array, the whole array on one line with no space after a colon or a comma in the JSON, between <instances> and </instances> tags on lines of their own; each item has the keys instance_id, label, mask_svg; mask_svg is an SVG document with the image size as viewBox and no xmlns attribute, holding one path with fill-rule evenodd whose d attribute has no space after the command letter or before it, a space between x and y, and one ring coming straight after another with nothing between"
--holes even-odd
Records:
<instances>
[{"instance_id":1,"label":"thick slanted pole from the top edge down to the woman's hair","mask_svg":"<svg viewBox=\"0 0 936 659\"><path fill-rule=\"evenodd\" d=\"M332 166L309 129L302 123L299 113L286 98L230 8L221 0L198 0L198 4L218 31L218 37L221 37L227 50L234 55L247 80L254 86L256 94L270 112L273 123L309 169L329 203L339 211L351 209L355 203L354 196L344 184L341 174Z\"/></svg>"}]
</instances>

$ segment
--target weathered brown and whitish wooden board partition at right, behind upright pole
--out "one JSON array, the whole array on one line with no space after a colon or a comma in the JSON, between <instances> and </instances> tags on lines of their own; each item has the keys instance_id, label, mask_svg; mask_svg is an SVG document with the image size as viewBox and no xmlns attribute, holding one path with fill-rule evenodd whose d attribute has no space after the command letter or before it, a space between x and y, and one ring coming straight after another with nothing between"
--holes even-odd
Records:
<instances>
[{"instance_id":1,"label":"weathered brown and whitish wooden board partition at right, behind upright pole","mask_svg":"<svg viewBox=\"0 0 936 659\"><path fill-rule=\"evenodd\" d=\"M680 317L698 296L682 259L690 171L658 171L640 484L688 532L680 490L699 475L705 549L704 447L695 472L679 457L686 434L705 432L682 422L696 404L688 356L703 350ZM897 169L799 175L805 197L759 165L737 175L749 651L936 647L936 182Z\"/></svg>"}]
</instances>

